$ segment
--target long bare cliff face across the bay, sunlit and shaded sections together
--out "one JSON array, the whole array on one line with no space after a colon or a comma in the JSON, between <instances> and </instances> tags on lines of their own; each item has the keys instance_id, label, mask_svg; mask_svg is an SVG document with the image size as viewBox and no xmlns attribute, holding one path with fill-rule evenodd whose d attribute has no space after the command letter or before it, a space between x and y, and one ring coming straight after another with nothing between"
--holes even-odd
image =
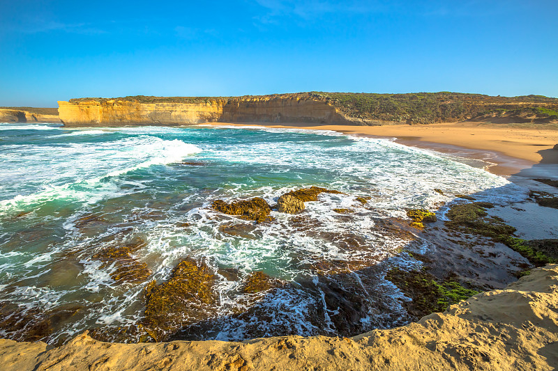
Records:
<instances>
[{"instance_id":1,"label":"long bare cliff face across the bay, sunlit and shaded sections together","mask_svg":"<svg viewBox=\"0 0 558 371\"><path fill-rule=\"evenodd\" d=\"M324 100L292 95L234 97L202 102L92 99L58 102L61 121L82 125L196 125L199 123L311 123L381 125L351 118Z\"/></svg>"}]
</instances>

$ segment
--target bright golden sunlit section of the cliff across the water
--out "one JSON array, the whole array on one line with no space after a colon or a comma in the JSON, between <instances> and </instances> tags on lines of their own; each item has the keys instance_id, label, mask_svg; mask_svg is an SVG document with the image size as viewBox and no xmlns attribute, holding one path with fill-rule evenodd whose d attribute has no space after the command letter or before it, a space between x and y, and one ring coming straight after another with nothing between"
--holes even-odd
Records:
<instances>
[{"instance_id":1,"label":"bright golden sunlit section of the cliff across the water","mask_svg":"<svg viewBox=\"0 0 558 371\"><path fill-rule=\"evenodd\" d=\"M223 102L140 103L126 100L58 102L64 125L195 125L217 121Z\"/></svg>"}]
</instances>

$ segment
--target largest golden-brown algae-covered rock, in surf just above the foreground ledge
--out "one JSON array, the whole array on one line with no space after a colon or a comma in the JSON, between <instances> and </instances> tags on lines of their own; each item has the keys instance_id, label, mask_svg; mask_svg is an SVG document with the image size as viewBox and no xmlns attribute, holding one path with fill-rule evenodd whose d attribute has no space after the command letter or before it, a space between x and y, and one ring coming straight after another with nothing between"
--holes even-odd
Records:
<instances>
[{"instance_id":1,"label":"largest golden-brown algae-covered rock, in surf just above the foreground ledge","mask_svg":"<svg viewBox=\"0 0 558 371\"><path fill-rule=\"evenodd\" d=\"M151 281L145 288L144 329L161 341L183 326L215 316L215 284L216 276L205 264L182 260L168 281Z\"/></svg>"}]
</instances>

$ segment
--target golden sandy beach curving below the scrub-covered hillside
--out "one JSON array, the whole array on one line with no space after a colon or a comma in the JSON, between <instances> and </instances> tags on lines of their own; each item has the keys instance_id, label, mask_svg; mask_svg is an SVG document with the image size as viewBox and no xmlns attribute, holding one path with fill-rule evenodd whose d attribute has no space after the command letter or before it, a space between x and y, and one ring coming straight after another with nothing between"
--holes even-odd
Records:
<instances>
[{"instance_id":1,"label":"golden sandy beach curving below the scrub-covered hillside","mask_svg":"<svg viewBox=\"0 0 558 371\"><path fill-rule=\"evenodd\" d=\"M535 164L558 164L558 150L552 150L558 143L558 131L545 128L532 129L470 121L385 126L273 125L270 123L213 123L211 125L333 130L346 134L396 138L398 143L405 145L485 159L497 164L490 166L488 170L498 175L513 175Z\"/></svg>"}]
</instances>

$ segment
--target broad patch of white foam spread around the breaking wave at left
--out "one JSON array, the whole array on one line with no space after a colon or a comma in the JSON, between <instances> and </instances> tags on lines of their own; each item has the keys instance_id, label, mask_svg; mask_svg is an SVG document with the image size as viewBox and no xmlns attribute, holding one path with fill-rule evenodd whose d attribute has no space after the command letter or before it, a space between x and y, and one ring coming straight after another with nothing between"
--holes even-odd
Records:
<instances>
[{"instance_id":1,"label":"broad patch of white foam spread around the breaking wave at left","mask_svg":"<svg viewBox=\"0 0 558 371\"><path fill-rule=\"evenodd\" d=\"M96 203L121 195L118 180L103 180L140 168L172 164L200 151L196 145L177 139L165 141L151 136L110 143L73 143L50 147L21 145L14 151L19 152L20 160L6 161L10 168L0 175L0 181L12 183L13 189L17 189L21 182L28 187L36 184L35 191L1 200L0 210L56 198ZM10 155L9 152L3 153L0 160ZM71 161L64 161L67 158ZM6 188L9 192L10 188L6 186L4 191Z\"/></svg>"}]
</instances>

